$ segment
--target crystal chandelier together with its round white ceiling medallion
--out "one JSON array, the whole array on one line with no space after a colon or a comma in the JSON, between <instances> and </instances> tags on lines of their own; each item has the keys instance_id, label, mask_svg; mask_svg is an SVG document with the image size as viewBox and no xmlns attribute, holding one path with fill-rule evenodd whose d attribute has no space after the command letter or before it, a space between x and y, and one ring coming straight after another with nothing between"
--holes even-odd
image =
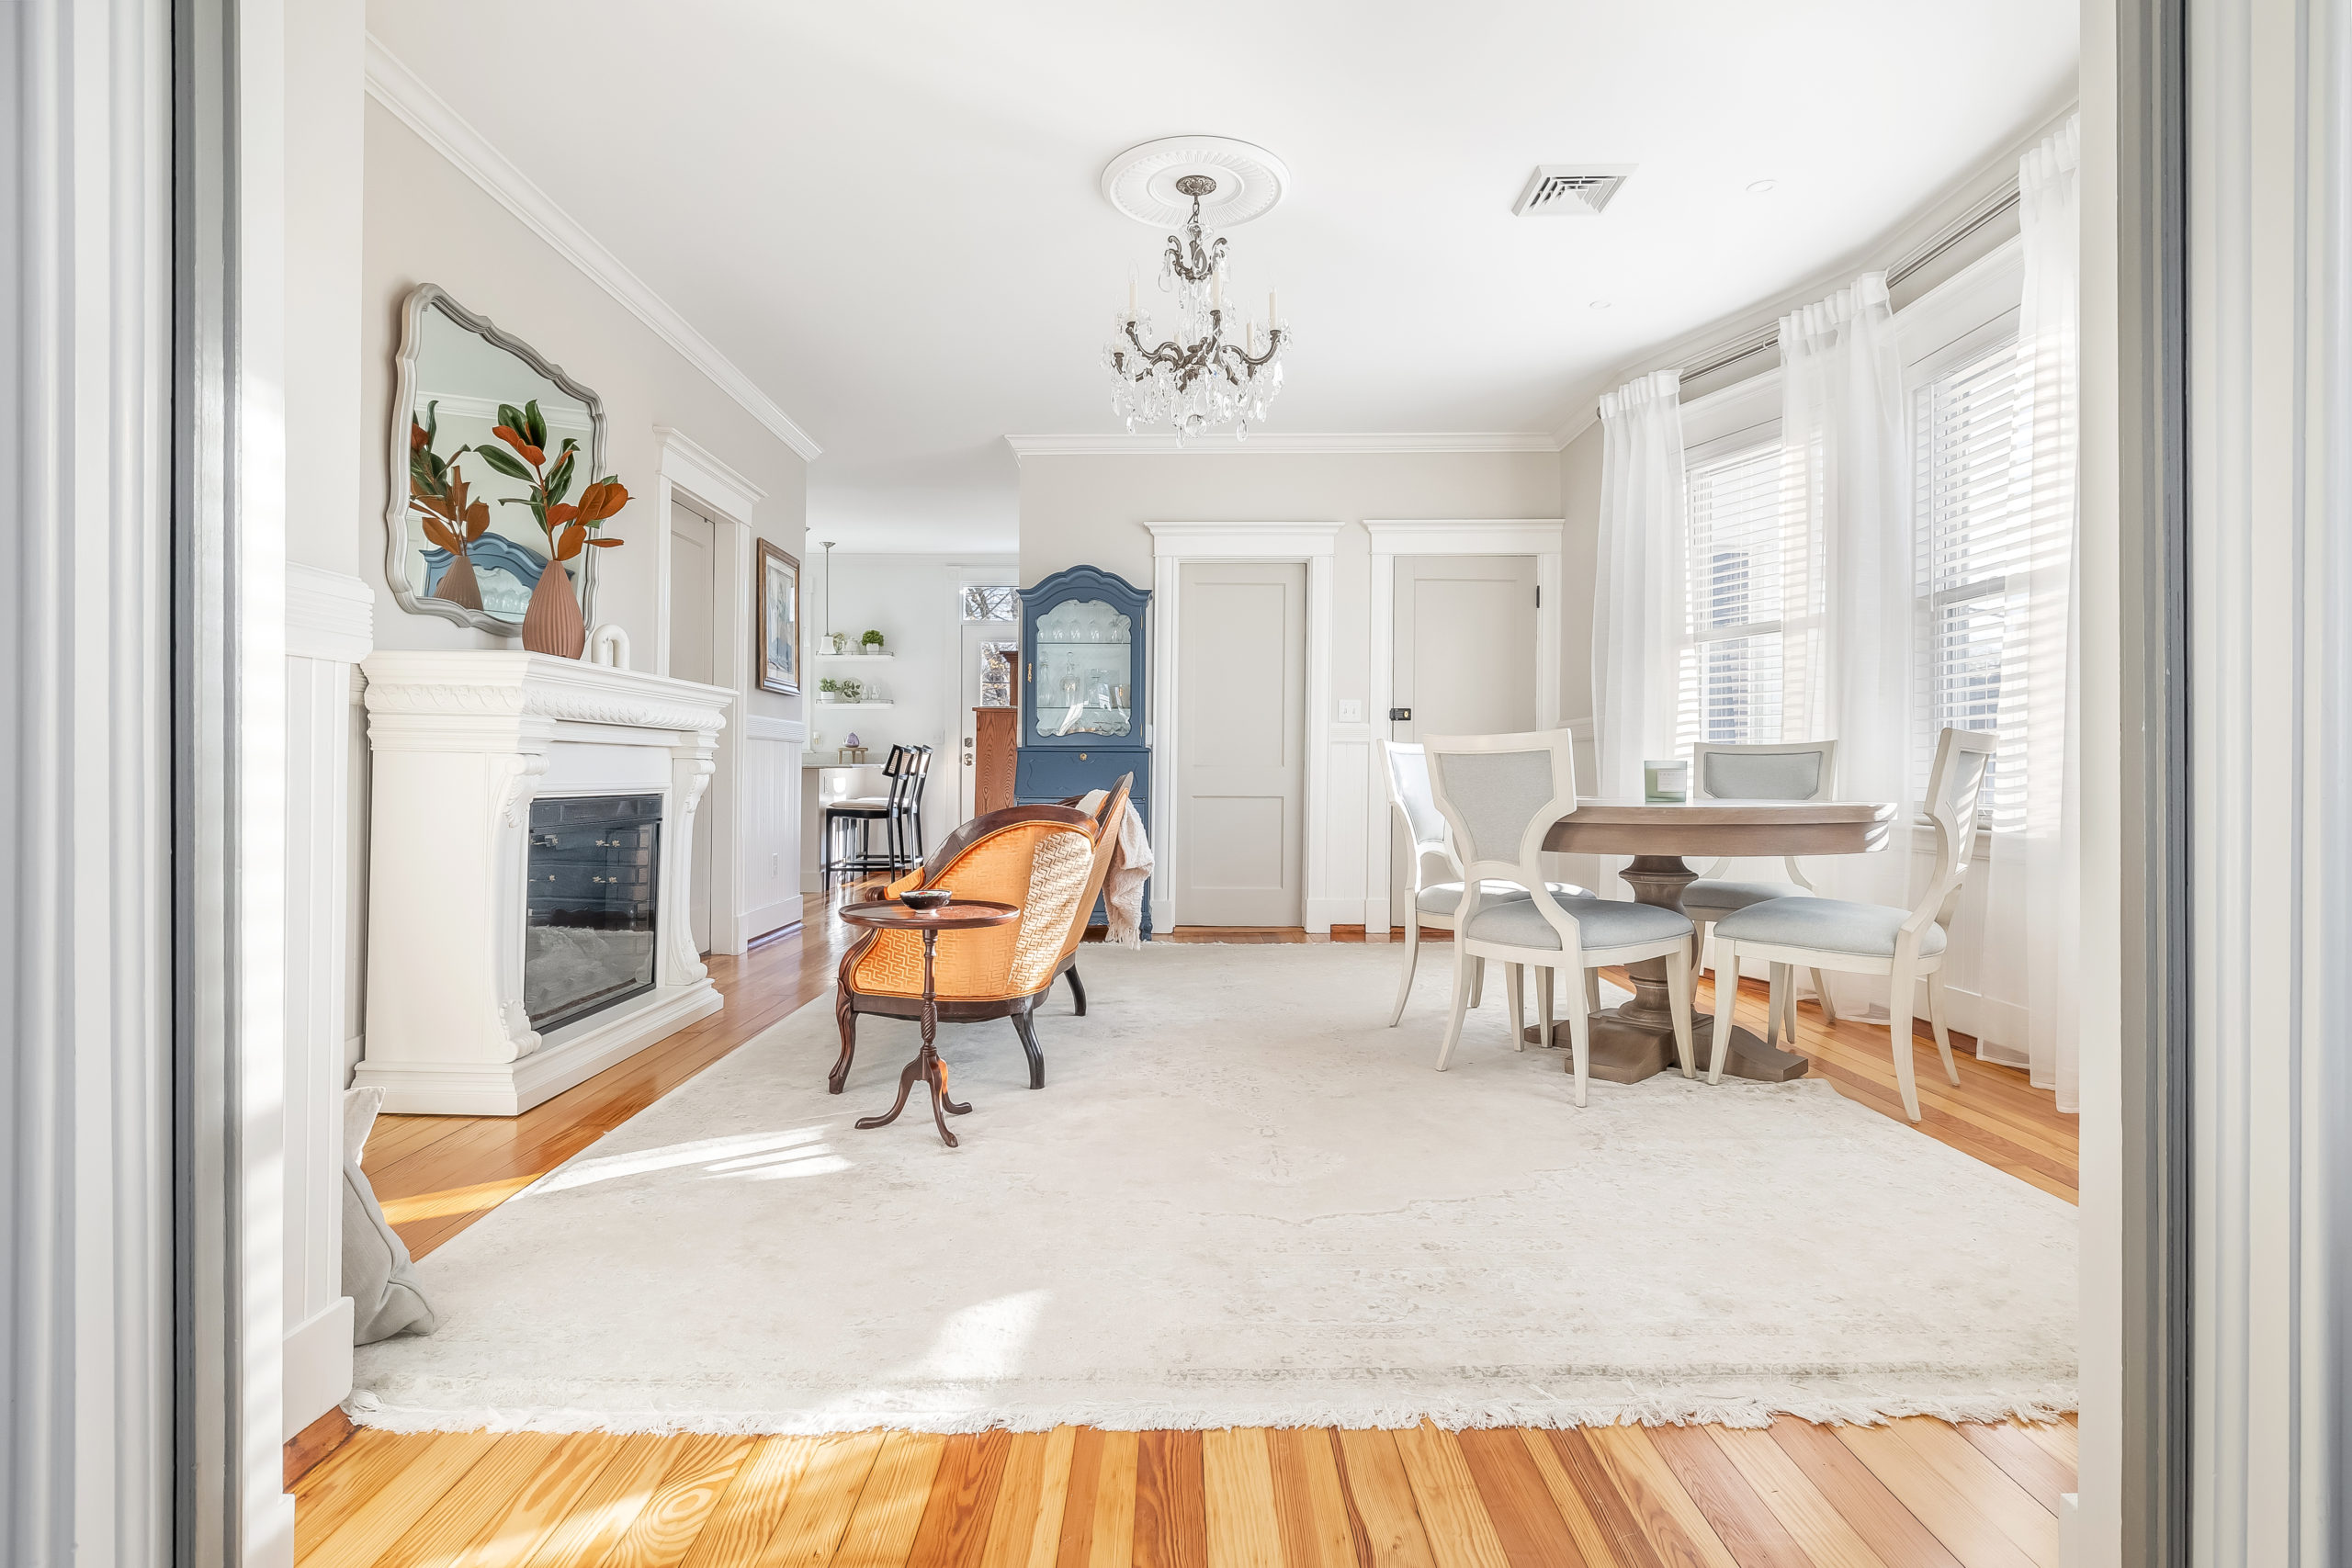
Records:
<instances>
[{"instance_id":1,"label":"crystal chandelier together with its round white ceiling medallion","mask_svg":"<svg viewBox=\"0 0 2352 1568\"><path fill-rule=\"evenodd\" d=\"M1240 160L1228 148L1254 158ZM1103 172L1103 193L1120 212L1152 221L1164 212L1155 190L1162 181L1167 197L1190 205L1181 212L1183 233L1169 235L1160 254L1160 289L1171 296L1167 334L1138 308L1129 275L1127 310L1112 322L1103 350L1110 411L1129 433L1167 425L1176 444L1218 425L1232 425L1235 440L1249 440L1249 425L1265 421L1265 407L1282 390L1282 350L1291 331L1277 315L1272 292L1265 294L1263 329L1225 303L1225 240L1204 230L1202 205L1211 214L1232 212L1232 221L1254 219L1282 200L1289 174L1249 143L1171 136L1122 153Z\"/></svg>"}]
</instances>

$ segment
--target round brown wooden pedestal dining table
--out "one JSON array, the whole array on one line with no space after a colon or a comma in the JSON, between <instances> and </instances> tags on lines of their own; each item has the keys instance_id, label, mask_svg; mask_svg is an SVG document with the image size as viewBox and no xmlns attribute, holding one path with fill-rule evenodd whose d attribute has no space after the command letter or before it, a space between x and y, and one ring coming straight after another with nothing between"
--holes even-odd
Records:
<instances>
[{"instance_id":1,"label":"round brown wooden pedestal dining table","mask_svg":"<svg viewBox=\"0 0 2352 1568\"><path fill-rule=\"evenodd\" d=\"M1618 872L1639 903L1682 912L1682 889L1698 882L1684 856L1858 856L1886 849L1896 809L1886 802L1835 799L1585 799L1552 823L1543 846L1564 856L1632 856ZM1592 1013L1592 1077L1639 1084L1675 1065L1675 1016L1668 1006L1665 959L1628 964L1632 1001ZM1538 1030L1543 1025L1536 1025ZM1698 1070L1715 1063L1715 1018L1691 1018ZM1541 1041L1538 1041L1541 1044ZM1566 1025L1552 1025L1566 1046ZM1731 1032L1731 1077L1780 1084L1804 1077L1806 1060L1764 1044L1755 1030Z\"/></svg>"}]
</instances>

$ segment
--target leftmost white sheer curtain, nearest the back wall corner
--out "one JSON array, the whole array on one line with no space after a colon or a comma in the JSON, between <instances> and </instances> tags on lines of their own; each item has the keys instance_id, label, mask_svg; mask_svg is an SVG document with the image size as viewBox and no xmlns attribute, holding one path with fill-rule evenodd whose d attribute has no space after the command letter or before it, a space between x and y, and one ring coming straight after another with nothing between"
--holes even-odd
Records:
<instances>
[{"instance_id":1,"label":"leftmost white sheer curtain, nearest the back wall corner","mask_svg":"<svg viewBox=\"0 0 2352 1568\"><path fill-rule=\"evenodd\" d=\"M1602 397L1602 536L1592 574L1592 750L1585 795L1642 797L1642 764L1675 757L1675 679L1691 609L1682 567L1682 378L1653 371Z\"/></svg>"}]
</instances>

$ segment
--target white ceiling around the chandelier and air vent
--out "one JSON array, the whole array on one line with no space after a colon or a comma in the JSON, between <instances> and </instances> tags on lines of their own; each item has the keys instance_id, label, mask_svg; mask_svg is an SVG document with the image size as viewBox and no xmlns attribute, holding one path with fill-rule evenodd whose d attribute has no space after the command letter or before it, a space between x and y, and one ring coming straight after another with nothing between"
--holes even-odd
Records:
<instances>
[{"instance_id":1,"label":"white ceiling around the chandelier and air vent","mask_svg":"<svg viewBox=\"0 0 2352 1568\"><path fill-rule=\"evenodd\" d=\"M1296 329L1268 433L1552 430L2074 92L2067 0L376 0L369 31L826 447L809 531L861 550L1007 550L1002 437L1117 430L1101 346L1160 235L1096 181L1138 141L1291 169L1232 230ZM1602 219L1515 219L1538 162L1639 172Z\"/></svg>"}]
</instances>

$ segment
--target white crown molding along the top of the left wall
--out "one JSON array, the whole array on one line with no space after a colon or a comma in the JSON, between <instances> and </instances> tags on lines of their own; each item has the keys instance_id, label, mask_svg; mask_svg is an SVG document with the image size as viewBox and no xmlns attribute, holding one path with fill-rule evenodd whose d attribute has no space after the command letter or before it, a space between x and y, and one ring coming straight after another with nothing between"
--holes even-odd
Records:
<instances>
[{"instance_id":1,"label":"white crown molding along the top of the left wall","mask_svg":"<svg viewBox=\"0 0 2352 1568\"><path fill-rule=\"evenodd\" d=\"M449 103L423 85L400 56L386 49L374 33L367 38L367 96L383 103L402 125L416 132L426 146L447 158L456 169L487 190L501 207L515 214L524 228L555 247L555 252L586 273L597 287L612 294L654 334L682 353L694 369L762 425L774 430L786 447L807 461L816 461L823 447L793 423L783 407L760 390L734 360L696 331L666 299L630 273L619 256L604 249L595 235L581 228L579 219L555 205L555 200L532 183L508 158L494 148L482 132L459 115Z\"/></svg>"}]
</instances>

